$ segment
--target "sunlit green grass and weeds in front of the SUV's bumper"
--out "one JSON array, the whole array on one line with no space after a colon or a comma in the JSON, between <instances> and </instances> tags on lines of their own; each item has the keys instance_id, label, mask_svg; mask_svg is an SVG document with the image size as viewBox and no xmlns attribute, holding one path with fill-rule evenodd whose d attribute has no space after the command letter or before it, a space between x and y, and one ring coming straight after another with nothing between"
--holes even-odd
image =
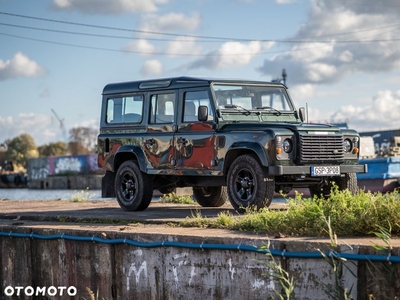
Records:
<instances>
[{"instance_id":1,"label":"sunlit green grass and weeds in front of the SUV's bumper","mask_svg":"<svg viewBox=\"0 0 400 300\"><path fill-rule=\"evenodd\" d=\"M400 194L370 193L361 190L356 195L333 188L329 199L288 199L288 209L275 211L268 208L255 211L247 209L243 215L220 213L217 218L206 219L200 213L187 217L181 226L200 226L257 233L289 236L329 236L326 220L329 217L331 232L340 236L371 236L387 228L400 236Z\"/></svg>"}]
</instances>

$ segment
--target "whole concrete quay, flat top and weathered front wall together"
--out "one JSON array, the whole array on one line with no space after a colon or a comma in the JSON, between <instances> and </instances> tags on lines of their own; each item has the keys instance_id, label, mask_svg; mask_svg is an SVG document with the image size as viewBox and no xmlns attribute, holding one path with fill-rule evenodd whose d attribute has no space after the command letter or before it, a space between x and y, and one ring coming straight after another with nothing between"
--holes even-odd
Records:
<instances>
[{"instance_id":1,"label":"whole concrete quay, flat top and weathered front wall together","mask_svg":"<svg viewBox=\"0 0 400 300\"><path fill-rule=\"evenodd\" d=\"M274 297L274 290L281 291L274 277L276 270L270 268L264 253L244 251L240 245L270 244L271 249L285 249L286 253L332 250L328 239L274 238L250 232L166 225L178 222L197 206L152 203L148 211L132 213L123 212L114 201L1 201L0 205L0 232L77 237L42 240L0 236L0 299L21 299L6 297L4 291L9 286L73 286L77 289L75 299L90 299L87 288L98 292L99 299L268 299ZM213 217L227 209L232 208L202 208L201 212ZM52 219L57 215L60 220L76 216L79 222L48 221L48 216ZM108 222L106 216L129 222L88 223L93 216L97 220L104 218L104 222ZM157 218L159 222L150 222ZM89 237L89 241L80 241L79 237ZM93 237L164 244L154 248L104 244L94 242ZM165 242L186 246L165 246ZM370 246L380 243L377 239L344 238L339 243L339 252L379 254ZM238 247L221 250L190 246L196 244ZM400 255L399 244L397 239L392 241L392 256ZM329 259L275 259L293 278L296 299L327 299L329 285L335 289L335 273ZM370 294L375 299L399 296L398 264L356 260L343 261L343 265L335 263L343 271L339 282L344 288L352 288L353 299L367 299Z\"/></svg>"}]
</instances>

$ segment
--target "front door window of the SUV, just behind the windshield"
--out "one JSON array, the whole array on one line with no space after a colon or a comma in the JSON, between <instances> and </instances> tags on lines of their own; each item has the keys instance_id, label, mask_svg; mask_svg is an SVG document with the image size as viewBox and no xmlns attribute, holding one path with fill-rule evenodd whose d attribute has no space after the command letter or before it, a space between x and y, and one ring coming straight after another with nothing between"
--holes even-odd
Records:
<instances>
[{"instance_id":1,"label":"front door window of the SUV, just behind the windshield","mask_svg":"<svg viewBox=\"0 0 400 300\"><path fill-rule=\"evenodd\" d=\"M211 102L207 91L186 92L183 105L183 122L197 122L197 111L200 105L208 107L208 119L213 119Z\"/></svg>"}]
</instances>

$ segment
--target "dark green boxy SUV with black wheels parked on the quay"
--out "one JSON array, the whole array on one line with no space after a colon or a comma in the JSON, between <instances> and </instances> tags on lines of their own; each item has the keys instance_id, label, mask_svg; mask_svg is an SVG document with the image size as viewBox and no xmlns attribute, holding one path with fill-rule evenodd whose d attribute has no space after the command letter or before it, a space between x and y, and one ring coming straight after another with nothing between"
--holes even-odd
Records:
<instances>
[{"instance_id":1,"label":"dark green boxy SUV with black wheels parked on the quay","mask_svg":"<svg viewBox=\"0 0 400 300\"><path fill-rule=\"evenodd\" d=\"M360 137L305 123L285 85L176 77L107 85L98 164L102 196L146 209L153 190L192 187L197 202L237 211L267 207L274 192L357 190Z\"/></svg>"}]
</instances>

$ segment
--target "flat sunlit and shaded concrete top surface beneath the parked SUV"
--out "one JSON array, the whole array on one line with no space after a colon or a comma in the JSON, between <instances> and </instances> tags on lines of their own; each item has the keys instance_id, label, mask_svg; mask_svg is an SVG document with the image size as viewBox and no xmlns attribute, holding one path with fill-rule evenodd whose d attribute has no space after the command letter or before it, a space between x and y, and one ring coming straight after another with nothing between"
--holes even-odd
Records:
<instances>
[{"instance_id":1,"label":"flat sunlit and shaded concrete top surface beneath the parked SUV","mask_svg":"<svg viewBox=\"0 0 400 300\"><path fill-rule=\"evenodd\" d=\"M286 203L272 203L270 208L282 210ZM19 226L32 228L78 229L102 232L135 232L173 234L182 236L214 236L230 238L275 239L271 234L255 234L234 230L179 227L185 218L200 213L216 218L222 212L238 215L229 203L218 208L204 208L197 204L170 204L154 201L144 211L127 212L117 201L90 200L0 200L0 227ZM68 218L68 219L67 219ZM66 222L68 220L68 222ZM1 229L0 229L1 230ZM327 238L281 237L282 241L329 242ZM382 244L373 237L339 237L339 243L351 245ZM392 237L393 247L400 247L400 238Z\"/></svg>"}]
</instances>

